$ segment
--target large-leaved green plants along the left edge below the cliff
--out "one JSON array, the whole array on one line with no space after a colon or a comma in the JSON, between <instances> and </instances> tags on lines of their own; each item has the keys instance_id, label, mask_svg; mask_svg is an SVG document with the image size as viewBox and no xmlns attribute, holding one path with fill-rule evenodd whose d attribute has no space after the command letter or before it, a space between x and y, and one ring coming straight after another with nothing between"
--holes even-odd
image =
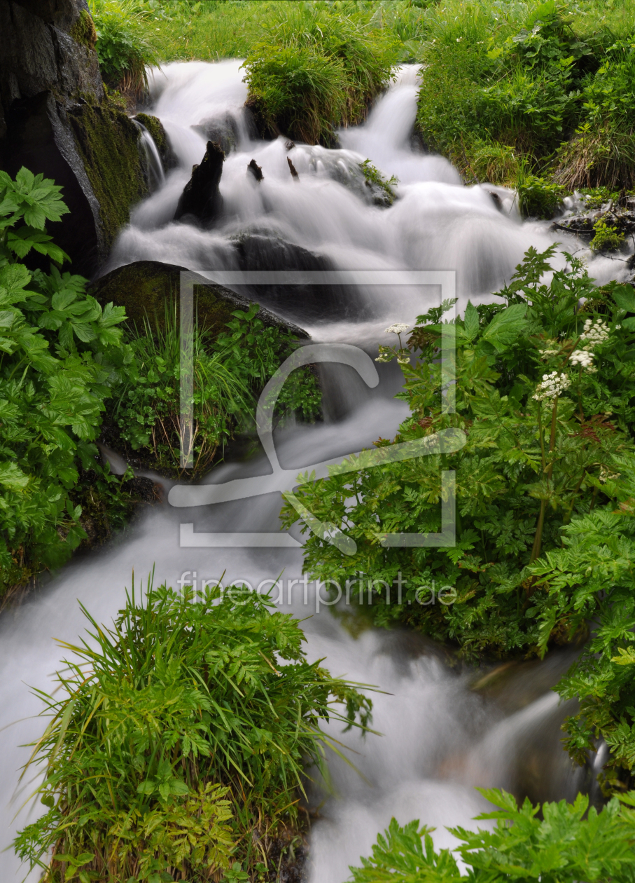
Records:
<instances>
[{"instance_id":1,"label":"large-leaved green plants along the left edge below the cliff","mask_svg":"<svg viewBox=\"0 0 635 883\"><path fill-rule=\"evenodd\" d=\"M131 358L86 280L19 262L66 255L46 233L68 209L60 188L26 169L0 172L0 586L64 562L86 533L72 489L94 469L103 400Z\"/></svg>"}]
</instances>

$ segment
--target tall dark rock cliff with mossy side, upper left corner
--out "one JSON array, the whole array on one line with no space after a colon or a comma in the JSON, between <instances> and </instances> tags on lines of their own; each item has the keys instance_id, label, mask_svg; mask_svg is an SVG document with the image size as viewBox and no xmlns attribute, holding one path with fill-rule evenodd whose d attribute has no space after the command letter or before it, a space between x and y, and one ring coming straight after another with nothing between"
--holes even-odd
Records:
<instances>
[{"instance_id":1,"label":"tall dark rock cliff with mossy side, upper left corner","mask_svg":"<svg viewBox=\"0 0 635 883\"><path fill-rule=\"evenodd\" d=\"M138 130L104 94L86 0L0 0L0 34L0 166L62 185L49 231L92 275L147 192Z\"/></svg>"}]
</instances>

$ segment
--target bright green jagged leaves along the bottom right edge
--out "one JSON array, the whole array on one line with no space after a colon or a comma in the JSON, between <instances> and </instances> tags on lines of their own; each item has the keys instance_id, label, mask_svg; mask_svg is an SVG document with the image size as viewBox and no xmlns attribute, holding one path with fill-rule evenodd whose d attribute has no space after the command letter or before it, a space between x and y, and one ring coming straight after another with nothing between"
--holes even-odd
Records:
<instances>
[{"instance_id":1,"label":"bright green jagged leaves along the bottom right edge","mask_svg":"<svg viewBox=\"0 0 635 883\"><path fill-rule=\"evenodd\" d=\"M493 830L449 828L460 841L452 851L466 866L461 872L452 851L436 852L431 832L417 820L390 826L377 836L370 858L351 867L352 883L503 883L504 880L541 880L542 883L632 883L635 845L635 792L613 798L601 812L588 797L575 803L518 806L505 791L482 791L499 810L483 812L477 821L497 819ZM536 818L542 809L542 819ZM588 814L586 815L586 811Z\"/></svg>"}]
</instances>

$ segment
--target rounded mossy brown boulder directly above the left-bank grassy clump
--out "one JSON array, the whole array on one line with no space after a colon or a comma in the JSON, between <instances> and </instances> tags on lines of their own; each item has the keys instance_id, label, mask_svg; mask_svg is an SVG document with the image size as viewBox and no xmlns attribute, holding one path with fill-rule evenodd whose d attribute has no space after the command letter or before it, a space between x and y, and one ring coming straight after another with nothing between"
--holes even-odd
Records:
<instances>
[{"instance_id":1,"label":"rounded mossy brown boulder directly above the left-bank grassy clump","mask_svg":"<svg viewBox=\"0 0 635 883\"><path fill-rule=\"evenodd\" d=\"M156 260L136 260L101 276L89 293L102 305L112 302L115 306L124 306L128 320L138 328L142 328L146 320L151 327L163 328L166 309L176 304L178 313L181 272L185 269ZM226 328L228 321L232 321L234 310L246 310L252 303L250 298L216 283L197 284L194 296L198 321L209 328L214 336ZM253 300L260 303L259 298ZM300 338L308 337L302 328L263 307L258 317L265 325L286 329Z\"/></svg>"}]
</instances>

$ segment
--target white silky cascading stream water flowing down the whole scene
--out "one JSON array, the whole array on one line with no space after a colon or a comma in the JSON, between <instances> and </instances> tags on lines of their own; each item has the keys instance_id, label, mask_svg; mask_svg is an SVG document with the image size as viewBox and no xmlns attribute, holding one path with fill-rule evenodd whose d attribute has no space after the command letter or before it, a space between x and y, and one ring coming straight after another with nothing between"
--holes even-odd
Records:
<instances>
[{"instance_id":1,"label":"white silky cascading stream water flowing down the whole scene","mask_svg":"<svg viewBox=\"0 0 635 883\"><path fill-rule=\"evenodd\" d=\"M265 244L281 241L316 254L332 268L456 269L462 306L467 298L489 297L489 291L509 278L529 245L543 248L554 240L548 224L521 223L512 193L489 185L465 187L449 162L418 152L411 144L415 69L399 73L365 125L340 133L339 149L302 144L290 148L284 138L252 139L239 64L170 64L154 74L151 112L161 118L180 164L136 208L108 268L146 259L191 269L235 269L236 243L259 237ZM233 145L220 182L222 215L206 230L173 223L191 165L200 162L209 133L219 128ZM299 181L289 174L289 150ZM366 158L386 176L400 178L392 207L372 204L359 169ZM247 173L251 159L263 169L260 183ZM497 201L491 191L497 192ZM567 250L576 248L571 238ZM592 270L600 281L616 275L616 265L608 259L595 258ZM348 296L345 290L342 297ZM302 319L314 339L370 348L386 343L386 324L414 321L435 302L430 294L387 286L350 292L350 298L350 304L342 305L347 308L333 316L320 312L315 298L308 305L299 296L293 317ZM388 366L372 391L361 381L358 386L349 383L348 368L330 374L325 411L336 413L340 421L277 432L283 468L300 471L368 447L379 435L394 434L406 415L405 405L392 399L399 380L395 370ZM248 464L220 465L207 480L217 484L268 472L264 459L252 459ZM437 826L437 846L449 845L452 838L444 826L467 826L482 809L474 785L531 790L534 799L571 796L583 785L582 773L572 770L560 748L557 720L562 711L549 692L550 683L570 660L563 657L560 670L533 692L512 689L516 699L511 703L483 698L470 690L469 672L453 672L434 648L406 632L367 630L353 638L319 600L316 587L303 582L301 549L179 545L182 523L193 523L197 532L270 532L279 511L277 492L201 509L172 509L166 504L149 513L126 540L90 558L78 558L40 597L4 615L3 845L41 809L32 803L20 808L34 781L18 785L19 767L29 751L17 746L33 741L42 729L42 721L33 717L41 704L29 686L49 687L60 655L52 638L76 641L84 629L78 600L96 619L108 621L122 606L133 569L145 577L155 567L155 582L172 585L178 580L199 585L225 572L226 585L245 581L253 588L271 585L282 572L281 607L302 617L311 615L303 623L311 659L325 656L332 674L374 683L385 691L374 697L374 727L383 736L362 740L355 733L337 734L358 752L352 758L364 778L335 758L330 765L332 796L320 796L317 785L311 793L312 804L325 800L311 834L312 883L343 883L347 865L368 853L377 831L392 815L401 822L418 818ZM302 539L297 528L292 534ZM517 763L519 746L527 745L538 771L531 787L519 776ZM541 781L540 752L549 758L548 776L557 782L557 794ZM525 751L526 759L529 753ZM22 879L11 849L2 853L0 867L3 880Z\"/></svg>"}]
</instances>

